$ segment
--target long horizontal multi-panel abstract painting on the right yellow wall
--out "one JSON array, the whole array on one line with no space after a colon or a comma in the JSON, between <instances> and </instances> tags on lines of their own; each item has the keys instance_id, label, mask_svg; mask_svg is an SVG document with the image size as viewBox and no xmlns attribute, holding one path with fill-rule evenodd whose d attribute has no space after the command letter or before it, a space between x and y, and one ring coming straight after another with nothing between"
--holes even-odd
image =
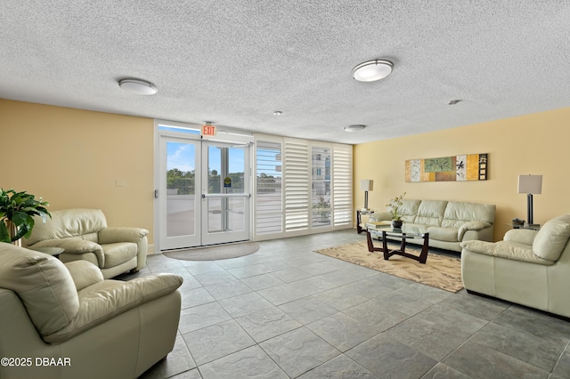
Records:
<instances>
[{"instance_id":1,"label":"long horizontal multi-panel abstract painting on the right yellow wall","mask_svg":"<svg viewBox=\"0 0 570 379\"><path fill-rule=\"evenodd\" d=\"M489 154L410 159L406 181L486 181Z\"/></svg>"}]
</instances>

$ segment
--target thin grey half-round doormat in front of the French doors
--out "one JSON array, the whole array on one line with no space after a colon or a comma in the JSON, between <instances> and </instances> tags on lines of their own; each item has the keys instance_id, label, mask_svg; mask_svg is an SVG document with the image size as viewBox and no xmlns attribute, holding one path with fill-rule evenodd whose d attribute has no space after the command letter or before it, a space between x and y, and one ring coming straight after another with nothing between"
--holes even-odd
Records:
<instances>
[{"instance_id":1,"label":"thin grey half-round doormat in front of the French doors","mask_svg":"<svg viewBox=\"0 0 570 379\"><path fill-rule=\"evenodd\" d=\"M183 261L219 261L221 259L238 258L253 254L259 250L256 242L240 242L208 247L193 247L191 249L170 250L162 254L168 258Z\"/></svg>"}]
</instances>

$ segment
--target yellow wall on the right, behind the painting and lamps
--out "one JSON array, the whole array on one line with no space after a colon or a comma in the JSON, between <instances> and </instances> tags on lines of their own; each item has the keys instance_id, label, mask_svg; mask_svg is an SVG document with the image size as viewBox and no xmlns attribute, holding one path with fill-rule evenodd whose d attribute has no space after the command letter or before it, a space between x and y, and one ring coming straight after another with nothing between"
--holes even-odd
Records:
<instances>
[{"instance_id":1,"label":"yellow wall on the right, behind the painting and lamps","mask_svg":"<svg viewBox=\"0 0 570 379\"><path fill-rule=\"evenodd\" d=\"M526 195L517 194L519 174L542 174L534 195L534 223L570 213L570 108L423 133L354 147L354 207L364 206L361 179L374 180L369 207L386 209L389 198L473 201L497 205L495 239L515 218L526 219ZM405 181L407 159L489 153L487 181Z\"/></svg>"}]
</instances>

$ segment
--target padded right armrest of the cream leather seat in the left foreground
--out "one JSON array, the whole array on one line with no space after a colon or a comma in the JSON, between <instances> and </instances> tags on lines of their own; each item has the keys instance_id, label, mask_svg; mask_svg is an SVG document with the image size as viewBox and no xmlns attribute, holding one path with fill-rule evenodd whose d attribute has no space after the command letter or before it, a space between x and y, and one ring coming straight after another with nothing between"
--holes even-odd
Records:
<instances>
[{"instance_id":1,"label":"padded right armrest of the cream leather seat in the left foreground","mask_svg":"<svg viewBox=\"0 0 570 379\"><path fill-rule=\"evenodd\" d=\"M103 280L87 286L77 294L79 312L67 327L45 335L46 343L62 343L88 329L132 310L142 303L151 302L175 292L183 278L175 274L156 274L129 281Z\"/></svg>"}]
</instances>

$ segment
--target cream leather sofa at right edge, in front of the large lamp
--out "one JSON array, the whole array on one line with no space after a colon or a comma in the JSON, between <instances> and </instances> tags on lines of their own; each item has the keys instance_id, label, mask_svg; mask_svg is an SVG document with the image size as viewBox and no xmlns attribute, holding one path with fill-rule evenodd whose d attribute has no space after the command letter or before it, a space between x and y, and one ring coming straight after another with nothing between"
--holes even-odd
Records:
<instances>
[{"instance_id":1,"label":"cream leather sofa at right edge, in front of the large lamp","mask_svg":"<svg viewBox=\"0 0 570 379\"><path fill-rule=\"evenodd\" d=\"M541 230L509 230L502 241L461 244L461 274L469 292L570 318L570 214Z\"/></svg>"}]
</instances>

